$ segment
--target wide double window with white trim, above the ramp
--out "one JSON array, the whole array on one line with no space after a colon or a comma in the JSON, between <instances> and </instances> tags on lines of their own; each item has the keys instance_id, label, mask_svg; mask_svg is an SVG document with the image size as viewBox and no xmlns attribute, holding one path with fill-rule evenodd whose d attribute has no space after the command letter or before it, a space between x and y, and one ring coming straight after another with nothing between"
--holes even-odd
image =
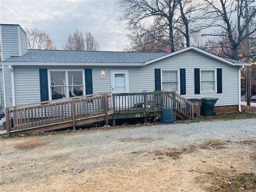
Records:
<instances>
[{"instance_id":1,"label":"wide double window with white trim, above the ramp","mask_svg":"<svg viewBox=\"0 0 256 192\"><path fill-rule=\"evenodd\" d=\"M84 95L83 70L50 70L51 99Z\"/></svg>"}]
</instances>

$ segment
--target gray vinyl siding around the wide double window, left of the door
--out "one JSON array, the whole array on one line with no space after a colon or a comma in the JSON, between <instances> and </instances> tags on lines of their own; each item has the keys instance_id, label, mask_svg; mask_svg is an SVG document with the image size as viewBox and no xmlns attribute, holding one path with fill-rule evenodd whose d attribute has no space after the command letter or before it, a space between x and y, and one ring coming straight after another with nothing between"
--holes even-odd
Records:
<instances>
[{"instance_id":1,"label":"gray vinyl siding around the wide double window, left of the door","mask_svg":"<svg viewBox=\"0 0 256 192\"><path fill-rule=\"evenodd\" d=\"M40 102L39 68L48 70L84 70L90 66L14 66L14 86L16 105ZM93 93L111 92L110 70L105 70L106 78L101 78L101 67L92 68ZM85 85L85 84L84 84ZM109 100L111 102L111 98ZM111 103L110 103L111 104Z\"/></svg>"}]
</instances>

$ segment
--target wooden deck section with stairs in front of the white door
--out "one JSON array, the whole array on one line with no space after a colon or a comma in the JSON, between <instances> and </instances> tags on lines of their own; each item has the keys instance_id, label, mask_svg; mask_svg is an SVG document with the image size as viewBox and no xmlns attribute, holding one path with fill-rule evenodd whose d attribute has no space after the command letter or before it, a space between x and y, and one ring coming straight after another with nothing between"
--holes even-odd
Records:
<instances>
[{"instance_id":1,"label":"wooden deck section with stairs in front of the white door","mask_svg":"<svg viewBox=\"0 0 256 192\"><path fill-rule=\"evenodd\" d=\"M174 109L176 116L194 119L194 104L176 92L142 92L112 94L113 125L116 119L146 118L161 115L163 107Z\"/></svg>"}]
</instances>

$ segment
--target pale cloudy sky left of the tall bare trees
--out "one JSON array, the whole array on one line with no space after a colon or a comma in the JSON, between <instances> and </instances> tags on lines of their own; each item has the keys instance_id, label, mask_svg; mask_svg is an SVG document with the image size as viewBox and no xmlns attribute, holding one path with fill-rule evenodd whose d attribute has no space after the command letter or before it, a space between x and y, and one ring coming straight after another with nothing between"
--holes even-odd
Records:
<instances>
[{"instance_id":1,"label":"pale cloudy sky left of the tall bare trees","mask_svg":"<svg viewBox=\"0 0 256 192\"><path fill-rule=\"evenodd\" d=\"M124 22L112 0L0 0L0 23L38 27L58 49L76 29L89 30L101 51L122 51L127 44Z\"/></svg>"}]
</instances>

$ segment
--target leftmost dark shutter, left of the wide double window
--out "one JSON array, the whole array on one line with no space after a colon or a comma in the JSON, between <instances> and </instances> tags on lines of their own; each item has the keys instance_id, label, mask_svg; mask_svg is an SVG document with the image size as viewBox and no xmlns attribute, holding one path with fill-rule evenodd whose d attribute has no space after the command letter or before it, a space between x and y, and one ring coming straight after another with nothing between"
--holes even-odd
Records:
<instances>
[{"instance_id":1,"label":"leftmost dark shutter, left of the wide double window","mask_svg":"<svg viewBox=\"0 0 256 192\"><path fill-rule=\"evenodd\" d=\"M40 96L41 101L48 101L48 77L47 69L39 69L39 79L40 79Z\"/></svg>"}]
</instances>

